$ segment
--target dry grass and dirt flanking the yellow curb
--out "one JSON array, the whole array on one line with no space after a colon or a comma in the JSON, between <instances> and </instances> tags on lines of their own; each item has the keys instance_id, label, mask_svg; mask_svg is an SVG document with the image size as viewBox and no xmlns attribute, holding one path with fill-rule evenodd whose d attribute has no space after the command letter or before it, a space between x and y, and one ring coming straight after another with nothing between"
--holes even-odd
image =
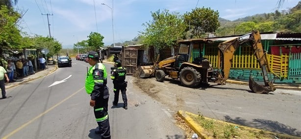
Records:
<instances>
[{"instance_id":1,"label":"dry grass and dirt flanking the yellow curb","mask_svg":"<svg viewBox=\"0 0 301 139\"><path fill-rule=\"evenodd\" d=\"M207 118L201 115L200 112L199 114L189 112L186 112L185 114L201 127L202 135L213 139L301 139L300 137L273 133ZM187 137L191 137L194 131L189 128L186 121L179 116L176 116L176 120L177 124L186 131Z\"/></svg>"}]
</instances>

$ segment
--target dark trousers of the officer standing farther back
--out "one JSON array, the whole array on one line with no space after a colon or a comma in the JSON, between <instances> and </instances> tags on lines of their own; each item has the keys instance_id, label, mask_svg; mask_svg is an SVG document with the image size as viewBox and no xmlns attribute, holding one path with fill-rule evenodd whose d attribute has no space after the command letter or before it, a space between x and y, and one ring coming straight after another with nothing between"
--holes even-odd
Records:
<instances>
[{"instance_id":1,"label":"dark trousers of the officer standing farther back","mask_svg":"<svg viewBox=\"0 0 301 139\"><path fill-rule=\"evenodd\" d=\"M127 98L126 98L126 86L127 82L124 83L118 83L118 82L113 82L114 84L114 104L118 104L119 100L119 91L121 91L122 99L124 101L124 106L127 106Z\"/></svg>"}]
</instances>

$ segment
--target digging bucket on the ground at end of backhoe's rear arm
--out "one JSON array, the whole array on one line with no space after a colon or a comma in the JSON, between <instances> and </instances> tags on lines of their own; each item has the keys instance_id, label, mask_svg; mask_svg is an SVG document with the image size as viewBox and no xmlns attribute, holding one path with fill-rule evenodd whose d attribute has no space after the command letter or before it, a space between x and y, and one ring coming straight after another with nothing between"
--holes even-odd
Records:
<instances>
[{"instance_id":1,"label":"digging bucket on the ground at end of backhoe's rear arm","mask_svg":"<svg viewBox=\"0 0 301 139\"><path fill-rule=\"evenodd\" d=\"M269 83L269 85L270 86L260 85L254 81L252 76L250 76L249 78L249 87L254 93L262 94L262 93L268 93L276 90L276 88L272 83Z\"/></svg>"}]
</instances>

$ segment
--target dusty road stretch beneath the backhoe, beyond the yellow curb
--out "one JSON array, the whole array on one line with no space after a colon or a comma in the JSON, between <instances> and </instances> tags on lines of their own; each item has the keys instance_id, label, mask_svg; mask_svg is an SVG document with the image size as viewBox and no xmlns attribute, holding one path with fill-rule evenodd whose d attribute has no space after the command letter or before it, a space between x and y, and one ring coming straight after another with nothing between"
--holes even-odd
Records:
<instances>
[{"instance_id":1,"label":"dusty road stretch beneath the backhoe, beyond the yellow curb","mask_svg":"<svg viewBox=\"0 0 301 139\"><path fill-rule=\"evenodd\" d=\"M301 91L276 89L251 93L248 85L231 84L188 88L179 81L139 79L139 88L170 111L183 110L205 117L301 137ZM147 85L145 85L147 84Z\"/></svg>"}]
</instances>

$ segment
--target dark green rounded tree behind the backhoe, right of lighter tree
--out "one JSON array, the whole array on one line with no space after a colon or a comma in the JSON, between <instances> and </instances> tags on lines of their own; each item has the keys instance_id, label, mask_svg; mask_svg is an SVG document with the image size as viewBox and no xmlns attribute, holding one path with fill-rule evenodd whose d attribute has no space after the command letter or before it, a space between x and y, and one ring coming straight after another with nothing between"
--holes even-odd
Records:
<instances>
[{"instance_id":1,"label":"dark green rounded tree behind the backhoe, right of lighter tree","mask_svg":"<svg viewBox=\"0 0 301 139\"><path fill-rule=\"evenodd\" d=\"M190 25L193 38L200 38L205 32L215 32L219 28L219 12L210 8L195 8L184 14L184 22ZM189 26L186 28L189 31Z\"/></svg>"}]
</instances>

